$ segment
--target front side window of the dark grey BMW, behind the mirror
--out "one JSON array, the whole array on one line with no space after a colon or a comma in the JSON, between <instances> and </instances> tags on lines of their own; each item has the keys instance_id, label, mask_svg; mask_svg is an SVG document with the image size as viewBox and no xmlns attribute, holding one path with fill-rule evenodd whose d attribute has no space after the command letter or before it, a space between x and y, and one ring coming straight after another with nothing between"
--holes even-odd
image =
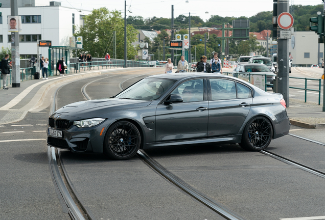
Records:
<instances>
[{"instance_id":1,"label":"front side window of the dark grey BMW, behind the mirror","mask_svg":"<svg viewBox=\"0 0 325 220\"><path fill-rule=\"evenodd\" d=\"M203 101L203 79L186 81L178 86L171 94L180 95L183 102Z\"/></svg>"}]
</instances>

